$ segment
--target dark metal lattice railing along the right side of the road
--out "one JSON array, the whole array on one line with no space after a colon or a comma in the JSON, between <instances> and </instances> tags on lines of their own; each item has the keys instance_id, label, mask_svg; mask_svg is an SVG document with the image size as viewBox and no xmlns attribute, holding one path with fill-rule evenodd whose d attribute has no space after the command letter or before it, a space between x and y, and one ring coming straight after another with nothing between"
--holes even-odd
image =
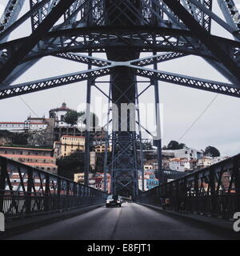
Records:
<instances>
[{"instance_id":1,"label":"dark metal lattice railing along the right side of the road","mask_svg":"<svg viewBox=\"0 0 240 256\"><path fill-rule=\"evenodd\" d=\"M139 194L138 202L233 218L240 211L240 154Z\"/></svg>"}]
</instances>

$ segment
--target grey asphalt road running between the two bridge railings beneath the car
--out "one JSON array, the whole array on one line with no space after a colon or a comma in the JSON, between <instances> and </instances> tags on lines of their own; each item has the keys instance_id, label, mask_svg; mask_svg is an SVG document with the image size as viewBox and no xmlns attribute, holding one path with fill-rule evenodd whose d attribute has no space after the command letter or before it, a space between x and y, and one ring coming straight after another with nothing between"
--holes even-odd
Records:
<instances>
[{"instance_id":1,"label":"grey asphalt road running between the two bridge railings beneath the car","mask_svg":"<svg viewBox=\"0 0 240 256\"><path fill-rule=\"evenodd\" d=\"M105 206L42 226L10 240L165 240L165 239L227 239L224 234L198 223L151 210L134 203L122 207Z\"/></svg>"}]
</instances>

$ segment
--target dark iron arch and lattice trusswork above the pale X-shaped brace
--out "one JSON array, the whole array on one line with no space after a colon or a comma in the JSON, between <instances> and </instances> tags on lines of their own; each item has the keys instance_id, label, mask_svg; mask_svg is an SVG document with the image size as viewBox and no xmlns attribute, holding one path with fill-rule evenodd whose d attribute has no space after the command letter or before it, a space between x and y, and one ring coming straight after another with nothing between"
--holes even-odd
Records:
<instances>
[{"instance_id":1,"label":"dark iron arch and lattice trusswork above the pale X-shaped brace","mask_svg":"<svg viewBox=\"0 0 240 256\"><path fill-rule=\"evenodd\" d=\"M187 25L171 10L167 2L159 0L139 0L139 2L140 8L134 7L133 2L130 0L118 2L101 0L75 1L64 13L63 22L53 26L46 36L42 35L43 37L39 40L38 45L33 50L30 50L19 64L27 62L29 68L30 64L33 65L35 62L28 61L50 54L57 54L62 58L69 55L70 52L88 52L89 50L105 52L106 48L124 46L133 47L141 51L170 51L182 55L196 54L211 61L218 61L218 56L215 56L207 49L201 38L196 38L187 29ZM7 26L0 33L0 38L2 40L6 38L10 32L25 22L27 18L31 18L32 30L37 30L38 26L51 14L58 3L58 0L31 0L29 12L18 18L22 5L18 1L10 1L2 16L2 20L4 17L8 17L8 19ZM182 0L181 3L191 17L206 31L210 32L211 22L214 20L225 30L238 37L238 22L236 19L238 10L233 1L219 3L227 22L214 14L212 1L210 0ZM124 6L123 10L119 10L121 4ZM18 11L15 8L16 6L18 6ZM116 17L118 28L112 25L108 26L110 24L104 10L107 10L106 12L109 11L110 14L118 10L118 17ZM121 14L124 15L126 20L131 20L131 26L119 20ZM10 17L14 17L14 19L10 20ZM230 23L230 21L232 22ZM91 27L84 28L89 23ZM95 26L95 29L92 26ZM238 64L240 49L238 41L218 38L210 36L210 34L209 37L211 37L212 42L218 42L226 54ZM0 45L2 68L4 63L14 52L18 51L25 40L26 38L19 38L13 42L6 42ZM74 60L74 58L71 59ZM23 72L24 68L21 65L20 67L21 72ZM14 74L14 71L12 73L14 76L12 80L19 76L19 72L18 74Z\"/></svg>"}]
</instances>

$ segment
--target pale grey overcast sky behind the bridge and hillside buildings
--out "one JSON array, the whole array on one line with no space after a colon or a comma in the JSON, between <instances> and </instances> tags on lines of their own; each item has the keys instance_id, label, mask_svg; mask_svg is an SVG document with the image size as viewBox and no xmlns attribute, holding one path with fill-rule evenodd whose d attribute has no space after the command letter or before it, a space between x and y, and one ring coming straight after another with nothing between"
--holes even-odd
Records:
<instances>
[{"instance_id":1,"label":"pale grey overcast sky behind the bridge and hillside buildings","mask_svg":"<svg viewBox=\"0 0 240 256\"><path fill-rule=\"evenodd\" d=\"M0 12L2 10L1 5L4 6L6 2L6 0L1 0ZM25 2L20 15L24 14L29 8L29 1ZM222 17L217 1L214 1L214 11ZM231 38L229 34L216 24L213 26L212 33ZM11 34L10 39L21 38L29 34L30 21L25 22L23 26ZM96 56L105 58L102 54ZM158 65L158 69L187 74L198 78L208 78L219 82L228 82L226 78L223 78L218 71L214 70L202 58L195 56L164 62ZM46 57L42 58L35 66L18 78L14 84L80 70L86 70L86 66L60 58ZM165 82L160 82L159 88L164 113L163 145L166 145L172 139L178 140L181 138L182 134L198 118L216 94L203 90L190 89L184 86L171 85ZM102 85L102 89L107 91L107 86ZM97 90L93 90L93 94L100 96ZM79 104L86 102L86 82L44 90L34 94L26 94L21 97L34 110L38 117L42 117L44 114L48 117L49 110L56 106L61 106L62 102L66 102L73 109L77 109ZM141 97L141 101L145 103L153 102L154 94L152 94L152 91L144 94ZM1 122L24 121L30 113L34 117L34 113L19 97L1 100L0 109ZM239 98L218 95L218 98L195 126L182 138L181 142L199 150L205 149L206 146L216 146L222 155L240 153L239 109Z\"/></svg>"}]
</instances>

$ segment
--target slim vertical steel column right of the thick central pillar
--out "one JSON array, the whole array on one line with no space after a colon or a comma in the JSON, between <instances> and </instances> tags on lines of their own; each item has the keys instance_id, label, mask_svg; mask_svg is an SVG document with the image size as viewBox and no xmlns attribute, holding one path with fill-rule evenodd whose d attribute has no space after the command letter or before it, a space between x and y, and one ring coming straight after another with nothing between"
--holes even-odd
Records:
<instances>
[{"instance_id":1,"label":"slim vertical steel column right of the thick central pillar","mask_svg":"<svg viewBox=\"0 0 240 256\"><path fill-rule=\"evenodd\" d=\"M154 55L157 53L154 52ZM154 70L158 70L158 63L154 61ZM160 101L159 101L159 89L158 80L154 78L154 94L155 94L155 110L156 110L156 127L157 127L157 140L155 140L158 147L158 181L159 185L163 183L162 173L162 134L161 134L161 119L160 119Z\"/></svg>"}]
</instances>

